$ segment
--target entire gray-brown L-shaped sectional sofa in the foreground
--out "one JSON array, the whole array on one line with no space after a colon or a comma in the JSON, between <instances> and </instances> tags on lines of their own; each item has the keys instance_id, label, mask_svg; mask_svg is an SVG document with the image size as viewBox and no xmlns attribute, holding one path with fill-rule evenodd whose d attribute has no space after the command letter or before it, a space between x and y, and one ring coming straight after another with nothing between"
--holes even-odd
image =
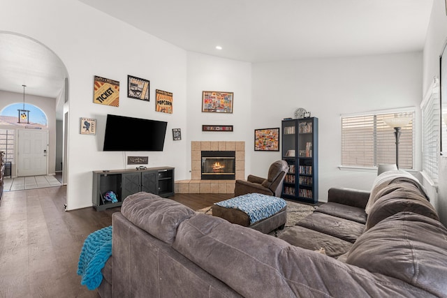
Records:
<instances>
[{"instance_id":1,"label":"entire gray-brown L-shaped sectional sofa in the foreground","mask_svg":"<svg viewBox=\"0 0 447 298\"><path fill-rule=\"evenodd\" d=\"M382 175L371 192L332 188L328 203L281 238L156 195L131 195L113 214L112 257L98 292L447 297L447 229L415 179Z\"/></svg>"}]
</instances>

